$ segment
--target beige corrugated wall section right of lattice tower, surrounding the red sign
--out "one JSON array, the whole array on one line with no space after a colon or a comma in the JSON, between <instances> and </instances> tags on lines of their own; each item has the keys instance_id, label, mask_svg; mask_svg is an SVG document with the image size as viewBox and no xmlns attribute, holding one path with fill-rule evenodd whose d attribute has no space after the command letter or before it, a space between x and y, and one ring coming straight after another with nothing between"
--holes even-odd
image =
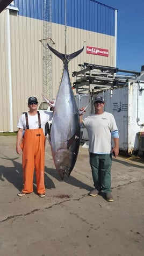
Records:
<instances>
[{"instance_id":1,"label":"beige corrugated wall section right of lattice tower, surrounding the red sign","mask_svg":"<svg viewBox=\"0 0 144 256\"><path fill-rule=\"evenodd\" d=\"M94 33L91 31L75 29L73 27L68 27L67 33L67 53L75 52L78 49L82 48L84 45L84 51L80 55L78 55L77 58L69 62L69 74L71 83L75 81L75 77L72 77L72 72L80 70L80 67L78 67L78 65L83 64L83 62L103 66L115 66L114 37L111 37L110 35ZM53 48L57 49L57 51L59 52L64 53L63 25L58 25L54 23L52 24L52 39L55 42ZM109 49L109 57L87 54L87 45ZM52 60L53 95L55 97L62 76L63 63L54 54L52 54Z\"/></svg>"}]
</instances>

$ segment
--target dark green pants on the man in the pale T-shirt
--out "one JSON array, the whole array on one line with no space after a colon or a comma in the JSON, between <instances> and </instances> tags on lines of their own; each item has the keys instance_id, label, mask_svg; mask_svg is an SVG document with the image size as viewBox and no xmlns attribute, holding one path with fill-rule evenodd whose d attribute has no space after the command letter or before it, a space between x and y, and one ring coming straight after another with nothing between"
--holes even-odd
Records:
<instances>
[{"instance_id":1,"label":"dark green pants on the man in the pale T-shirt","mask_svg":"<svg viewBox=\"0 0 144 256\"><path fill-rule=\"evenodd\" d=\"M111 154L90 153L90 166L94 186L98 191L111 192Z\"/></svg>"}]
</instances>

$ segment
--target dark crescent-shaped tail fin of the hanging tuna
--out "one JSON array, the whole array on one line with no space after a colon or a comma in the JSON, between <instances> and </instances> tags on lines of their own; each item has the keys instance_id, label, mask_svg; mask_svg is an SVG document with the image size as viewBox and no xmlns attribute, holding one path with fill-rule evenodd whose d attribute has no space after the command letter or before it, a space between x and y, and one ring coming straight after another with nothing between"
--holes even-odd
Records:
<instances>
[{"instance_id":1,"label":"dark crescent-shaped tail fin of the hanging tuna","mask_svg":"<svg viewBox=\"0 0 144 256\"><path fill-rule=\"evenodd\" d=\"M80 54L83 49L84 49L84 46L78 50L77 52L74 52L74 53L71 53L71 54L64 54L64 53L60 53L58 51L56 51L56 49L52 48L49 44L47 44L48 48L51 50L51 52L53 52L57 57L59 57L63 63L65 61L69 62L70 60L74 59L78 54Z\"/></svg>"}]
</instances>

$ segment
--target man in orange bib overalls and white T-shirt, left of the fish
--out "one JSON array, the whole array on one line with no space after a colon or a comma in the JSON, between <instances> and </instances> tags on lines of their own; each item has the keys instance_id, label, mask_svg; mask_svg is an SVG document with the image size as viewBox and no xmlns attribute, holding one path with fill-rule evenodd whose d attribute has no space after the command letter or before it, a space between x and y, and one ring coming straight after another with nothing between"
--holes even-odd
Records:
<instances>
[{"instance_id":1,"label":"man in orange bib overalls and white T-shirt, left of the fish","mask_svg":"<svg viewBox=\"0 0 144 256\"><path fill-rule=\"evenodd\" d=\"M53 102L51 102L53 103ZM28 112L23 113L18 121L16 151L20 155L23 150L23 181L24 187L18 196L33 192L33 174L35 168L37 193L45 197L45 124L52 119L53 112L37 111L38 100L28 98Z\"/></svg>"}]
</instances>

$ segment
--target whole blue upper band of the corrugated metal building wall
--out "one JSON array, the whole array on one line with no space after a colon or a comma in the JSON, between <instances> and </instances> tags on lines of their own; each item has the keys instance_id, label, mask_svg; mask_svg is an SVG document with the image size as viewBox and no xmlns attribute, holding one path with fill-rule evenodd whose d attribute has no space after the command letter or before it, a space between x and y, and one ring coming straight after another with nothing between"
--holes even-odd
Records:
<instances>
[{"instance_id":1,"label":"whole blue upper band of the corrugated metal building wall","mask_svg":"<svg viewBox=\"0 0 144 256\"><path fill-rule=\"evenodd\" d=\"M64 25L64 0L51 1L52 23ZM42 20L42 2L42 0L15 0L15 6L19 9L20 16ZM114 36L114 8L95 0L67 0L66 7L68 26Z\"/></svg>"}]
</instances>

